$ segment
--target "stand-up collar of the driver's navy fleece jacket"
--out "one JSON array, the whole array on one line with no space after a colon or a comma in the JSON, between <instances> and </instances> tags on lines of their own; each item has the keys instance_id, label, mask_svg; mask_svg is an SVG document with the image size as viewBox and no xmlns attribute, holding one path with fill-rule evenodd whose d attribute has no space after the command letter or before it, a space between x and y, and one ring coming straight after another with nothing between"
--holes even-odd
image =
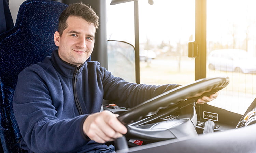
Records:
<instances>
[{"instance_id":1,"label":"stand-up collar of the driver's navy fleece jacket","mask_svg":"<svg viewBox=\"0 0 256 153\"><path fill-rule=\"evenodd\" d=\"M58 55L58 49L52 52L51 62L54 68L65 77L72 78L74 75L74 72L77 71L76 65L73 65L61 60L61 58ZM80 72L83 70L83 67L85 65L87 65L87 62L79 66Z\"/></svg>"}]
</instances>

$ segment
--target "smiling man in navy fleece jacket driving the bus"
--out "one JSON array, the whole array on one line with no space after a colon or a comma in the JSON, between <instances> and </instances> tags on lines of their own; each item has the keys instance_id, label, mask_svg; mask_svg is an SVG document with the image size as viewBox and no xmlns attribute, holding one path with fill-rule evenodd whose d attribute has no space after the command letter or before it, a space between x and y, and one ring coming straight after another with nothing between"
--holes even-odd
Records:
<instances>
[{"instance_id":1,"label":"smiling man in navy fleece jacket driving the bus","mask_svg":"<svg viewBox=\"0 0 256 153\"><path fill-rule=\"evenodd\" d=\"M70 5L54 34L57 50L18 77L14 114L29 152L112 152L104 145L127 132L116 115L102 111L102 100L133 107L179 85L135 84L114 77L90 57L98 16L82 3ZM199 99L205 103L218 94Z\"/></svg>"}]
</instances>

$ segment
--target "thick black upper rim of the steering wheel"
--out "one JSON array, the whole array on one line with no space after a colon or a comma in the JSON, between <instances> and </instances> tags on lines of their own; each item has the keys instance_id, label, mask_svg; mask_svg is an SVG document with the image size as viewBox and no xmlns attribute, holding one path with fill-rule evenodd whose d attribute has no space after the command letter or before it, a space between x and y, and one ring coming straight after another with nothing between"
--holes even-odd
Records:
<instances>
[{"instance_id":1,"label":"thick black upper rim of the steering wheel","mask_svg":"<svg viewBox=\"0 0 256 153\"><path fill-rule=\"evenodd\" d=\"M127 125L135 120L141 119L149 112L158 111L159 109L166 108L170 105L175 106L179 104L179 102L188 99L188 97L194 97L197 93L203 93L204 91L210 90L210 92L203 94L209 96L209 94L213 94L214 92L225 88L228 84L228 76L199 79L194 83L179 86L154 98L151 98L133 107L129 111L120 114L120 116L117 118L122 124Z\"/></svg>"}]
</instances>

